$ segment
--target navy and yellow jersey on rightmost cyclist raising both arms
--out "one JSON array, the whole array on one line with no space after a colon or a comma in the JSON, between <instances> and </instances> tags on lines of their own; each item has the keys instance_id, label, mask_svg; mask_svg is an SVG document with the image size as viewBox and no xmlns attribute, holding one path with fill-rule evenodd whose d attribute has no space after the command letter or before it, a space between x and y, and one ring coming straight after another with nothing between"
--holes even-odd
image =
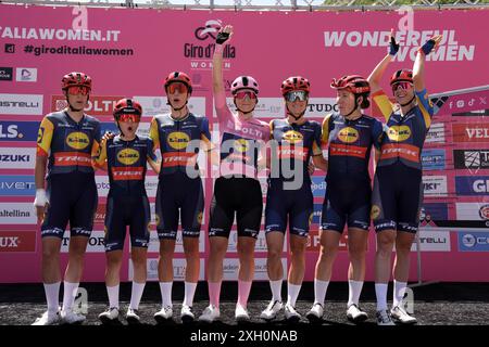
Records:
<instances>
[{"instance_id":1,"label":"navy and yellow jersey on rightmost cyclist raising both arms","mask_svg":"<svg viewBox=\"0 0 489 347\"><path fill-rule=\"evenodd\" d=\"M421 154L434 108L426 89L414 94L417 105L402 116L400 111L393 111L393 105L381 90L374 93L373 99L387 121L378 166L400 160L409 167L422 169Z\"/></svg>"}]
</instances>

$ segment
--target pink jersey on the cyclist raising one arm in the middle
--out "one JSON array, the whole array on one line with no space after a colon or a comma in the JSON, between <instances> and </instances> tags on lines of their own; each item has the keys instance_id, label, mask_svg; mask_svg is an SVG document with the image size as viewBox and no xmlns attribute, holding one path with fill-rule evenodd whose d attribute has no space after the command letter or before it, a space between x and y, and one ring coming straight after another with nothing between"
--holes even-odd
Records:
<instances>
[{"instance_id":1,"label":"pink jersey on the cyclist raising one arm in the middle","mask_svg":"<svg viewBox=\"0 0 489 347\"><path fill-rule=\"evenodd\" d=\"M240 119L227 106L224 91L214 94L214 102L221 132L221 175L256 178L258 159L269 139L268 124Z\"/></svg>"}]
</instances>

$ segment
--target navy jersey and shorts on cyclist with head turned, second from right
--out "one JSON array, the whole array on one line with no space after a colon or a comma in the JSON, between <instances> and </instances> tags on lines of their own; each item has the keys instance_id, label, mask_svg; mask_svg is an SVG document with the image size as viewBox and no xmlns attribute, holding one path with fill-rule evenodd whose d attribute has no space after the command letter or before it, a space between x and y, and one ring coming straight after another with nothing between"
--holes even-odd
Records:
<instances>
[{"instance_id":1,"label":"navy jersey and shorts on cyclist with head turned, second from right","mask_svg":"<svg viewBox=\"0 0 489 347\"><path fill-rule=\"evenodd\" d=\"M371 179L368 163L372 146L379 149L380 121L366 115L348 120L339 114L323 121L323 144L329 144L327 187L321 228L342 232L349 228L368 230L371 224Z\"/></svg>"}]
</instances>

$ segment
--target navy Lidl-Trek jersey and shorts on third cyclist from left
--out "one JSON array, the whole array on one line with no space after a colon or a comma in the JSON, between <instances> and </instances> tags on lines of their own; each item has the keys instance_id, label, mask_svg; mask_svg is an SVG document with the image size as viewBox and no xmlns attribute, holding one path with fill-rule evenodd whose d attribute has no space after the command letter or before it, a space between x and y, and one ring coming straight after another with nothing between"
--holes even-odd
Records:
<instances>
[{"instance_id":1,"label":"navy Lidl-Trek jersey and shorts on third cyclist from left","mask_svg":"<svg viewBox=\"0 0 489 347\"><path fill-rule=\"evenodd\" d=\"M175 240L181 219L183 236L199 237L204 196L197 155L202 144L205 150L213 147L209 120L191 113L183 119L159 115L151 123L150 136L162 155L156 191L158 236ZM195 141L192 146L190 141Z\"/></svg>"}]
</instances>

